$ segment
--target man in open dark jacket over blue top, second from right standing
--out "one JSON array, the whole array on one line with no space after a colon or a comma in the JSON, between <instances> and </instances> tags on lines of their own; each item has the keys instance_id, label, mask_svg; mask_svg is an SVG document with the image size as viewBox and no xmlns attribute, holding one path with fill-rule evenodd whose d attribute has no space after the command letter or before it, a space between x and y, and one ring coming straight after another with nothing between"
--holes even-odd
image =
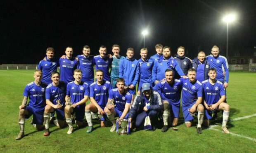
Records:
<instances>
[{"instance_id":1,"label":"man in open dark jacket over blue top, second from right standing","mask_svg":"<svg viewBox=\"0 0 256 153\"><path fill-rule=\"evenodd\" d=\"M192 68L194 68L196 73L196 79L200 82L209 79L208 71L210 69L210 63L205 59L205 53L200 51L197 58L192 63Z\"/></svg>"}]
</instances>

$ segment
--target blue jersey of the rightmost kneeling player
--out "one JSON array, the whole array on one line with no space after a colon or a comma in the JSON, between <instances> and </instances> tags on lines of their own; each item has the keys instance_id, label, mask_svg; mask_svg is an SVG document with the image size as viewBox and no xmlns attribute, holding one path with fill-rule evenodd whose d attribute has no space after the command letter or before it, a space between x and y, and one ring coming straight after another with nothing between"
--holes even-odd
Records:
<instances>
[{"instance_id":1,"label":"blue jersey of the rightmost kneeling player","mask_svg":"<svg viewBox=\"0 0 256 153\"><path fill-rule=\"evenodd\" d=\"M220 99L220 96L225 95L223 83L220 81L216 81L214 84L211 84L209 80L205 80L202 84L206 104L215 104Z\"/></svg>"}]
</instances>

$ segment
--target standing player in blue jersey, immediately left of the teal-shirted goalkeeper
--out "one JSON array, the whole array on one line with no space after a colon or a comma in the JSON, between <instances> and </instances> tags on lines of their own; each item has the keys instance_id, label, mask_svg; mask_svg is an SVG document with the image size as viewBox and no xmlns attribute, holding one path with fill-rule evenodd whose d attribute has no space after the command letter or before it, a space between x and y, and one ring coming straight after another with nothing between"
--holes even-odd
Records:
<instances>
[{"instance_id":1,"label":"standing player in blue jersey, immediately left of the teal-shirted goalkeeper","mask_svg":"<svg viewBox=\"0 0 256 153\"><path fill-rule=\"evenodd\" d=\"M106 46L100 46L99 49L100 55L94 56L93 63L95 63L95 70L102 70L104 72L104 80L110 82L110 73L109 67L111 67L111 63L113 58L109 58L106 56L107 48Z\"/></svg>"}]
</instances>

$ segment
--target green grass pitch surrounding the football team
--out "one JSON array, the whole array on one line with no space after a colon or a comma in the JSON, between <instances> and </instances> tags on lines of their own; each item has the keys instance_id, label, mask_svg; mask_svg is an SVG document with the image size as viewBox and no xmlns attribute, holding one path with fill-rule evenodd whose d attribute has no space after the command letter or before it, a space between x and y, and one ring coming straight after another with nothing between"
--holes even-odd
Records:
<instances>
[{"instance_id":1,"label":"green grass pitch surrounding the football team","mask_svg":"<svg viewBox=\"0 0 256 153\"><path fill-rule=\"evenodd\" d=\"M256 113L256 73L230 72L228 104L230 118ZM17 141L19 133L18 112L23 99L23 90L33 81L33 70L0 70L0 152L256 152L256 142L205 129L196 134L194 127L187 128L181 115L178 131L161 129L155 132L140 130L131 135L119 136L101 128L94 121L94 130L87 134L87 126L66 134L68 128L50 127L52 133L43 136L26 121L26 137ZM220 114L219 114L220 116ZM221 123L220 119L218 123ZM256 116L228 123L230 132L256 139ZM97 128L99 127L99 128ZM215 129L221 130L219 127Z\"/></svg>"}]
</instances>

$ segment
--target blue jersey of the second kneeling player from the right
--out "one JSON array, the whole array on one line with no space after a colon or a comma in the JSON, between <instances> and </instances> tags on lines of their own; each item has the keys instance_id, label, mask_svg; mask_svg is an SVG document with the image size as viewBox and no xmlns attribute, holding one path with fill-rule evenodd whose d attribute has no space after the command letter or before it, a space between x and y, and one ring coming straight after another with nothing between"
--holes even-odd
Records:
<instances>
[{"instance_id":1,"label":"blue jersey of the second kneeling player from the right","mask_svg":"<svg viewBox=\"0 0 256 153\"><path fill-rule=\"evenodd\" d=\"M199 81L191 83L188 78L180 78L180 81L182 82L182 106L192 104L197 101L198 97L202 97L203 88Z\"/></svg>"}]
</instances>

